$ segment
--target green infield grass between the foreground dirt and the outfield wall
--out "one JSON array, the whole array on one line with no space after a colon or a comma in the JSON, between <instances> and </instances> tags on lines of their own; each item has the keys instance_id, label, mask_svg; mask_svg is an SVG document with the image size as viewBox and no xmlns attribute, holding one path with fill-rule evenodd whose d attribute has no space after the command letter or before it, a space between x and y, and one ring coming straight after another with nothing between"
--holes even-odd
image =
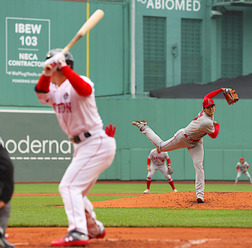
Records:
<instances>
[{"instance_id":1,"label":"green infield grass between the foreground dirt and the outfield wall","mask_svg":"<svg viewBox=\"0 0 252 248\"><path fill-rule=\"evenodd\" d=\"M96 184L90 193L139 193L145 183ZM194 184L176 184L179 191L195 192ZM152 193L170 192L169 184L151 185ZM251 192L249 184L206 184L206 192ZM16 184L15 193L58 193L58 184ZM131 196L89 196L94 201ZM11 201L9 226L67 226L60 196L16 196ZM113 227L252 227L251 209L165 209L165 208L96 208L98 219Z\"/></svg>"}]
</instances>

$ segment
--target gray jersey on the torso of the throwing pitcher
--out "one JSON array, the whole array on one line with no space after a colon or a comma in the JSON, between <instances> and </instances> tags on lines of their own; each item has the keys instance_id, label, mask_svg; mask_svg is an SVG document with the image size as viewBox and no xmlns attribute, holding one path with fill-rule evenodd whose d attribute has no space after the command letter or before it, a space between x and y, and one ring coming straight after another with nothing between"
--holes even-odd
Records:
<instances>
[{"instance_id":1,"label":"gray jersey on the torso of the throwing pitcher","mask_svg":"<svg viewBox=\"0 0 252 248\"><path fill-rule=\"evenodd\" d=\"M203 110L199 112L196 118L185 128L185 133L190 139L200 140L206 134L214 133L214 118L208 116Z\"/></svg>"}]
</instances>

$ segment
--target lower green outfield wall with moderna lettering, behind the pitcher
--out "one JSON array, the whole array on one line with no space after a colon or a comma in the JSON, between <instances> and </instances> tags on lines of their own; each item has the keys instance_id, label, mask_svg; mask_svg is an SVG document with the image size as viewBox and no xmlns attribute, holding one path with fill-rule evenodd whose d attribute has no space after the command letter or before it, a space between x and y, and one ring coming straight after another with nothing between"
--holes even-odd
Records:
<instances>
[{"instance_id":1,"label":"lower green outfield wall with moderna lettering, behind the pitcher","mask_svg":"<svg viewBox=\"0 0 252 248\"><path fill-rule=\"evenodd\" d=\"M215 120L220 124L216 139L204 137L204 167L207 180L233 180L241 156L252 161L251 100L229 106L216 99ZM200 99L155 99L101 97L97 105L104 124L117 126L116 157L100 180L145 180L146 161L152 143L131 125L146 119L163 140L185 127L200 111ZM71 161L72 146L52 111L1 109L1 136L15 164L17 182L59 181ZM186 149L171 151L175 180L194 180L194 167ZM156 180L164 180L161 173ZM241 180L247 180L244 176Z\"/></svg>"}]
</instances>

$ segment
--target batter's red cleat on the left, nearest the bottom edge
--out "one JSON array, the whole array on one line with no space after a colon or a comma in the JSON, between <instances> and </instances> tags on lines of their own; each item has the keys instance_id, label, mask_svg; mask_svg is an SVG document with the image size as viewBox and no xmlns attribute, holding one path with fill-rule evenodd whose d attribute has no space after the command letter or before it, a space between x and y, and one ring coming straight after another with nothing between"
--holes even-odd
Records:
<instances>
[{"instance_id":1,"label":"batter's red cleat on the left, nearest the bottom edge","mask_svg":"<svg viewBox=\"0 0 252 248\"><path fill-rule=\"evenodd\" d=\"M78 231L71 231L67 234L67 236L54 240L51 242L51 246L85 246L89 245L89 237Z\"/></svg>"}]
</instances>

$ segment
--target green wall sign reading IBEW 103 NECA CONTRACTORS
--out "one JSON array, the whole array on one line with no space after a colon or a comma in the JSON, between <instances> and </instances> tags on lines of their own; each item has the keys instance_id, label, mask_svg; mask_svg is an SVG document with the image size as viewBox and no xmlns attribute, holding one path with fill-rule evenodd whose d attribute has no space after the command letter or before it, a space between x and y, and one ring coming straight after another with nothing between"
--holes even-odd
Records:
<instances>
[{"instance_id":1,"label":"green wall sign reading IBEW 103 NECA CONTRACTORS","mask_svg":"<svg viewBox=\"0 0 252 248\"><path fill-rule=\"evenodd\" d=\"M37 83L48 50L50 20L6 17L6 74L12 83Z\"/></svg>"}]
</instances>

